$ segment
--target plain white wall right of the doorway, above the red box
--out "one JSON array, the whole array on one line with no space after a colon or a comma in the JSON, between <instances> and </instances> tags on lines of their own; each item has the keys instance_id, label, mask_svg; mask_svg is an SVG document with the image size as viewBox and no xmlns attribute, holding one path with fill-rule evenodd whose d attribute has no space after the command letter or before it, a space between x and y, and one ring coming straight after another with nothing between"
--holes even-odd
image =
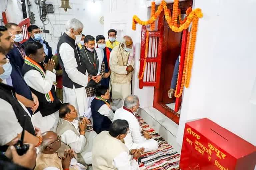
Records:
<instances>
[{"instance_id":1,"label":"plain white wall right of the doorway, above the red box","mask_svg":"<svg viewBox=\"0 0 256 170\"><path fill-rule=\"evenodd\" d=\"M252 0L196 0L201 8L190 87L185 89L177 141L185 122L207 117L256 145L256 105L249 102L256 75Z\"/></svg>"}]
</instances>

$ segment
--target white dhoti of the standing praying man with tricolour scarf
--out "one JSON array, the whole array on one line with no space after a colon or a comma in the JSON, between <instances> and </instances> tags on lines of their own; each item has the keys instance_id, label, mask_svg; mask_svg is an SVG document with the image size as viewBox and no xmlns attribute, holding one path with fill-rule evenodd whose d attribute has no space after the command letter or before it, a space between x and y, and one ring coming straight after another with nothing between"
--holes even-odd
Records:
<instances>
[{"instance_id":1,"label":"white dhoti of the standing praying man with tricolour scarf","mask_svg":"<svg viewBox=\"0 0 256 170\"><path fill-rule=\"evenodd\" d=\"M33 115L31 119L34 126L40 128L41 132L54 131L59 122L59 110L51 115L43 117L40 112Z\"/></svg>"}]
</instances>

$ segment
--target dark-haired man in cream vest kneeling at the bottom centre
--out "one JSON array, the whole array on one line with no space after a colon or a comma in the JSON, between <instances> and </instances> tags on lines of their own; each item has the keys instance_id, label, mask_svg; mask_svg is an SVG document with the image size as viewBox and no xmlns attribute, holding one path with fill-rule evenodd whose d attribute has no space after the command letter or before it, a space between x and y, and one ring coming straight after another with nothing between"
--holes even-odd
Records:
<instances>
[{"instance_id":1,"label":"dark-haired man in cream vest kneeling at the bottom centre","mask_svg":"<svg viewBox=\"0 0 256 170\"><path fill-rule=\"evenodd\" d=\"M93 170L139 170L137 161L144 148L129 151L123 143L129 133L128 122L118 119L110 125L109 132L102 131L95 137L92 148Z\"/></svg>"}]
</instances>

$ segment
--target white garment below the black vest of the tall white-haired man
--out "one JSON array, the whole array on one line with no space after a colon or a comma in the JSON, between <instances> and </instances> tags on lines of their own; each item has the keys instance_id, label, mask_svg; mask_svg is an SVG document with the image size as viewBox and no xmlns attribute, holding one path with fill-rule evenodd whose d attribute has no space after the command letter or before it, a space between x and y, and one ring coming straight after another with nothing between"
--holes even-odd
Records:
<instances>
[{"instance_id":1,"label":"white garment below the black vest of the tall white-haired man","mask_svg":"<svg viewBox=\"0 0 256 170\"><path fill-rule=\"evenodd\" d=\"M67 88L63 86L63 102L70 103L78 111L79 116L84 116L88 112L88 99L85 87L81 88Z\"/></svg>"}]
</instances>

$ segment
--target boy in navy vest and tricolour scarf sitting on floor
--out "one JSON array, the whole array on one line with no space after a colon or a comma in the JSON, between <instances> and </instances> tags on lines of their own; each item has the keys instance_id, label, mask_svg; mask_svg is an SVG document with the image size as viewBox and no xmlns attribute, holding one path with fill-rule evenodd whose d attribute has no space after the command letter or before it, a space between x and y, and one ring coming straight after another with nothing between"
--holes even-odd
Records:
<instances>
[{"instance_id":1,"label":"boy in navy vest and tricolour scarf sitting on floor","mask_svg":"<svg viewBox=\"0 0 256 170\"><path fill-rule=\"evenodd\" d=\"M99 86L96 89L96 97L91 103L93 130L99 134L102 131L108 131L114 118L114 113L107 100L110 93L107 87Z\"/></svg>"}]
</instances>

